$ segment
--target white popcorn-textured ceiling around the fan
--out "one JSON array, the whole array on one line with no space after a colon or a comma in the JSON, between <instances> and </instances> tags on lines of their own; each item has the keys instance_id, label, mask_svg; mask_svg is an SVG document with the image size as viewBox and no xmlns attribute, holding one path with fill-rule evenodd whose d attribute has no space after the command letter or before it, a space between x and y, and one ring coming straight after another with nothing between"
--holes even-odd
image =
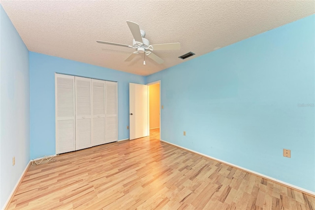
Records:
<instances>
[{"instance_id":1,"label":"white popcorn-textured ceiling around the fan","mask_svg":"<svg viewBox=\"0 0 315 210\"><path fill-rule=\"evenodd\" d=\"M139 75L158 72L315 13L314 0L0 2L30 51ZM140 55L124 61L133 49L95 42L132 45L127 20L138 23L151 44L180 42L181 50L156 51L165 62L157 64L146 58L147 65L143 65ZM178 58L189 51L196 55Z\"/></svg>"}]
</instances>

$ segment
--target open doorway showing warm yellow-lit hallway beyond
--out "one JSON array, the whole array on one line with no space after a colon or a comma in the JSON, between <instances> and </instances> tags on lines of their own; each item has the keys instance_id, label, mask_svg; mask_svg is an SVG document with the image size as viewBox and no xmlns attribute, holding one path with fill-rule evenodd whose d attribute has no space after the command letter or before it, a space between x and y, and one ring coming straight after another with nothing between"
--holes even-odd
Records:
<instances>
[{"instance_id":1,"label":"open doorway showing warm yellow-lit hallway beyond","mask_svg":"<svg viewBox=\"0 0 315 210\"><path fill-rule=\"evenodd\" d=\"M150 139L160 139L160 82L149 86L149 128Z\"/></svg>"}]
</instances>

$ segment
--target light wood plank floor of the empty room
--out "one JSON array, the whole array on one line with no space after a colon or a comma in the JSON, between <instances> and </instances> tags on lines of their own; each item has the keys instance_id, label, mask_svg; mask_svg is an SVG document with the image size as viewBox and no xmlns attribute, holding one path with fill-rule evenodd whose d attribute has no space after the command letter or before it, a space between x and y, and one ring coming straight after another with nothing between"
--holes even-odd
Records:
<instances>
[{"instance_id":1,"label":"light wood plank floor of the empty room","mask_svg":"<svg viewBox=\"0 0 315 210\"><path fill-rule=\"evenodd\" d=\"M9 209L315 210L315 197L151 136L31 166Z\"/></svg>"}]
</instances>

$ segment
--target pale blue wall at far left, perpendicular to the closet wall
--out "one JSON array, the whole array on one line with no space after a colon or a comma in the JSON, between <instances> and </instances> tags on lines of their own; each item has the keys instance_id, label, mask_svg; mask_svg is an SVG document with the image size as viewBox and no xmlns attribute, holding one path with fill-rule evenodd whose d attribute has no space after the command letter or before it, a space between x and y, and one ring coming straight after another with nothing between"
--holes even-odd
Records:
<instances>
[{"instance_id":1,"label":"pale blue wall at far left, perpendicular to the closet wall","mask_svg":"<svg viewBox=\"0 0 315 210\"><path fill-rule=\"evenodd\" d=\"M0 209L30 161L29 51L0 5ZM15 156L15 166L12 157Z\"/></svg>"}]
</instances>

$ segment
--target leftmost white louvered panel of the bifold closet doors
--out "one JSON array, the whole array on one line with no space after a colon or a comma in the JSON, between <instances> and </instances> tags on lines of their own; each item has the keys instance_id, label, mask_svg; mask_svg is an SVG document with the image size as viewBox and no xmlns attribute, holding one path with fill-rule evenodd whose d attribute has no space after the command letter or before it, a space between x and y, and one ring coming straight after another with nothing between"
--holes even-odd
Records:
<instances>
[{"instance_id":1,"label":"leftmost white louvered panel of the bifold closet doors","mask_svg":"<svg viewBox=\"0 0 315 210\"><path fill-rule=\"evenodd\" d=\"M75 150L74 76L55 74L56 154Z\"/></svg>"}]
</instances>

